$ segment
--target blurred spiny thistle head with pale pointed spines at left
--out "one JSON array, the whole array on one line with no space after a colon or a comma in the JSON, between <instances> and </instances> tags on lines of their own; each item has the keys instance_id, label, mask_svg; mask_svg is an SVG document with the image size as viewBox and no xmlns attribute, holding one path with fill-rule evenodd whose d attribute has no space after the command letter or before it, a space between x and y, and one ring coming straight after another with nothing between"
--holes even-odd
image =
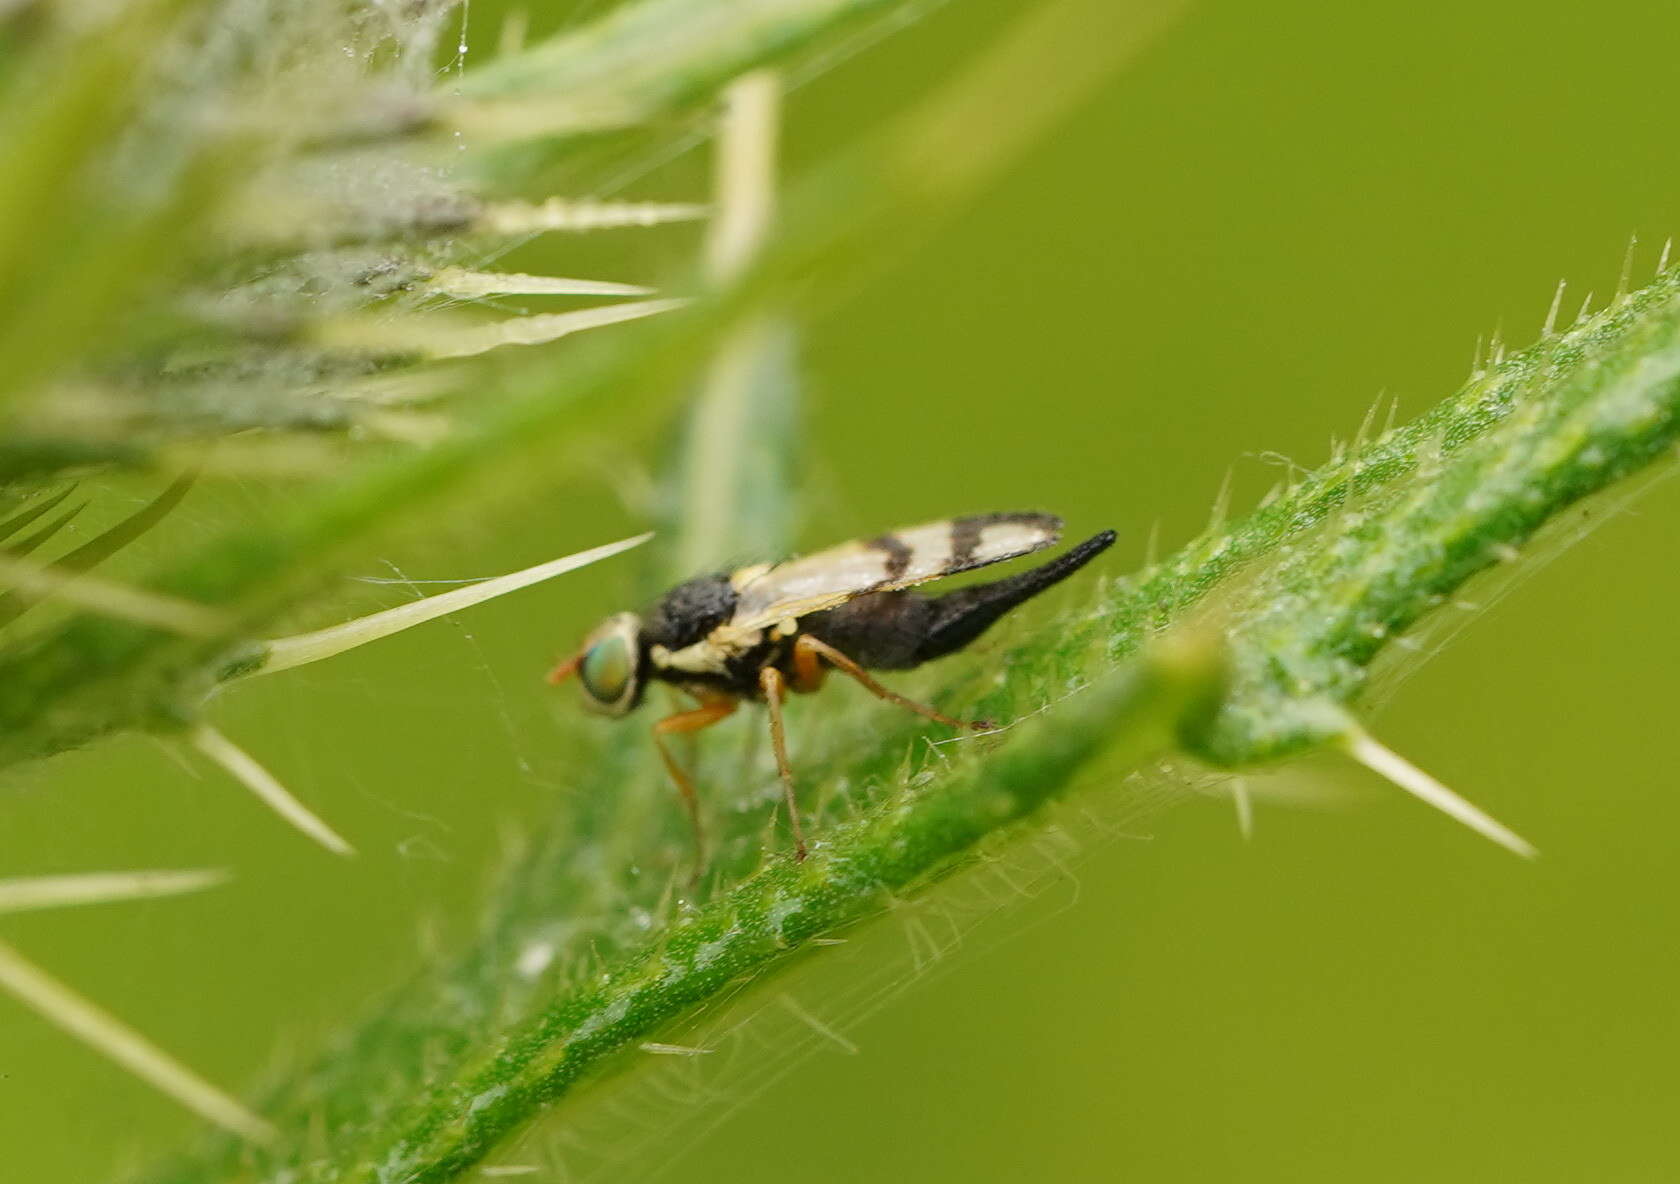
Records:
<instances>
[{"instance_id":1,"label":"blurred spiny thistle head with pale pointed spines at left","mask_svg":"<svg viewBox=\"0 0 1680 1184\"><path fill-rule=\"evenodd\" d=\"M203 472L202 494L213 495L218 475L252 472L281 445L299 462L294 475L314 480L354 487L363 470L395 472L383 485L371 480L378 492L361 502L363 517L398 529L423 522L420 494L437 474L491 469L496 443L519 433L516 423L484 430L522 413L497 391L522 396L526 410L554 405L556 420L571 403L564 390L541 391L553 368L566 366L563 354L512 364L487 354L541 354L559 338L682 306L647 299L655 289L645 284L494 270L531 235L633 233L707 213L664 196L531 191L568 136L605 126L556 121L553 94L601 106L628 79L590 69L591 59L652 57L652 44L674 35L677 52L638 76L637 111L642 121L682 116L738 69L887 7L780 0L736 22L739 37L702 44L684 30L731 5L625 5L603 24L667 12L628 39L601 40L590 27L563 34L561 44L583 42L585 52L539 67L524 97L501 87L504 113L529 107L517 128L465 138L449 116L470 106L475 72L435 72L452 22L462 22L457 55L465 54L465 12L447 0L400 10L333 0L0 7L0 665L20 675L7 680L0 712L8 759L50 756L121 727L178 734L307 835L349 853L200 717L218 678L277 667L279 655L296 665L361 645L642 539L334 630L252 643L331 571L334 544L348 537L343 502L323 499L279 537L235 529L208 561L183 564L195 542L160 529L193 485L178 477L42 559L97 500L77 497L74 482ZM509 45L497 69L517 69L522 55L548 60L553 47ZM645 89L660 72L669 86ZM539 144L507 151L524 139ZM504 296L605 304L511 317L479 309ZM459 400L464 393L475 398ZM158 556L150 579L87 574L143 536ZM171 566L188 573L175 586ZM37 615L22 620L37 606L50 610L39 626ZM7 907L160 895L212 880L15 882ZM272 1135L139 1033L10 947L0 954L0 986L54 1023L237 1135Z\"/></svg>"}]
</instances>

